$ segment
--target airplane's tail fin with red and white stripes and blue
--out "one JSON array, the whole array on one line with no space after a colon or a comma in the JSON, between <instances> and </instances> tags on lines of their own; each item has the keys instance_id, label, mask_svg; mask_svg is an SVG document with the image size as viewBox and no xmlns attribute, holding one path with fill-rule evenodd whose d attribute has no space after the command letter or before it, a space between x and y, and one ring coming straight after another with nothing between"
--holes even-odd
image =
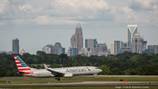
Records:
<instances>
[{"instance_id":1,"label":"airplane's tail fin with red and white stripes and blue","mask_svg":"<svg viewBox=\"0 0 158 89\"><path fill-rule=\"evenodd\" d=\"M20 58L20 56L14 56L18 72L24 75L31 74L31 68Z\"/></svg>"}]
</instances>

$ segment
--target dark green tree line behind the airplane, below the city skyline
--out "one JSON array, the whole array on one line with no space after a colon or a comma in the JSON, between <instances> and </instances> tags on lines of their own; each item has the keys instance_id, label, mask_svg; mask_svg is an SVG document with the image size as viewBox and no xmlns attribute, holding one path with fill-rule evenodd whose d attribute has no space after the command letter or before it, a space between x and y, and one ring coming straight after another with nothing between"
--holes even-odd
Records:
<instances>
[{"instance_id":1,"label":"dark green tree line behind the airplane, below the city skyline","mask_svg":"<svg viewBox=\"0 0 158 89\"><path fill-rule=\"evenodd\" d=\"M105 75L157 75L158 54L123 53L109 56L54 55L38 51L36 55L25 53L21 56L30 66L43 68L48 64L52 68L69 66L96 66ZM0 54L0 76L17 76L17 68L12 55Z\"/></svg>"}]
</instances>

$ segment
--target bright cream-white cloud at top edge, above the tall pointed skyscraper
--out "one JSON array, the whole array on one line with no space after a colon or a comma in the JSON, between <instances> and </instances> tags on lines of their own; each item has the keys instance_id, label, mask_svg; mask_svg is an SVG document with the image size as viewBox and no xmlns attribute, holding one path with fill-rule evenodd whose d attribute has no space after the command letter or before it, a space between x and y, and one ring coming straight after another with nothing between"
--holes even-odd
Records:
<instances>
[{"instance_id":1,"label":"bright cream-white cloud at top edge, above the tall pointed skyscraper","mask_svg":"<svg viewBox=\"0 0 158 89\"><path fill-rule=\"evenodd\" d=\"M52 0L51 6L60 15L93 15L108 10L105 0Z\"/></svg>"}]
</instances>

